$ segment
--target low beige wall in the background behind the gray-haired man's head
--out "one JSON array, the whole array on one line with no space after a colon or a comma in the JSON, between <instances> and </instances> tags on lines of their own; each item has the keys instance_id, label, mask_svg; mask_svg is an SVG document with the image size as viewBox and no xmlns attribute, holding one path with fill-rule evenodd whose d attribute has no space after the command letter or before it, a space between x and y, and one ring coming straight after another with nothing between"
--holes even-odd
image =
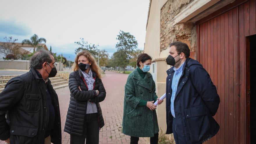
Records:
<instances>
[{"instance_id":1,"label":"low beige wall in the background behind the gray-haired man's head","mask_svg":"<svg viewBox=\"0 0 256 144\"><path fill-rule=\"evenodd\" d=\"M29 70L28 60L0 60L0 69ZM63 64L57 63L57 71L63 71Z\"/></svg>"}]
</instances>

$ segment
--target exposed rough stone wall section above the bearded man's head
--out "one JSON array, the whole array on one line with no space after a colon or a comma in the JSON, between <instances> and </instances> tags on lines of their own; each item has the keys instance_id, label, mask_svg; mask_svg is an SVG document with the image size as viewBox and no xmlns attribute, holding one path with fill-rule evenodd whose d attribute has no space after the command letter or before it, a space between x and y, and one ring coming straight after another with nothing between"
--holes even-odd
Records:
<instances>
[{"instance_id":1,"label":"exposed rough stone wall section above the bearded man's head","mask_svg":"<svg viewBox=\"0 0 256 144\"><path fill-rule=\"evenodd\" d=\"M196 28L193 23L174 24L174 17L193 0L168 0L160 14L160 51L169 48L171 42L186 43L195 51Z\"/></svg>"}]
</instances>

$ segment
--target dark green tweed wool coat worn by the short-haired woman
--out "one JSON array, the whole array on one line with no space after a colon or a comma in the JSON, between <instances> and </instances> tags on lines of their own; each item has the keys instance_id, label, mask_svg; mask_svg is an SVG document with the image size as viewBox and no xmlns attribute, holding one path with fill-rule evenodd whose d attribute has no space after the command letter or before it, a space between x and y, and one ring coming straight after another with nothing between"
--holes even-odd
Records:
<instances>
[{"instance_id":1,"label":"dark green tweed wool coat worn by the short-haired woman","mask_svg":"<svg viewBox=\"0 0 256 144\"><path fill-rule=\"evenodd\" d=\"M156 95L155 82L147 72L144 79L135 69L125 84L123 133L134 137L154 137L159 132L156 111L147 106L138 106L140 100L153 101Z\"/></svg>"}]
</instances>

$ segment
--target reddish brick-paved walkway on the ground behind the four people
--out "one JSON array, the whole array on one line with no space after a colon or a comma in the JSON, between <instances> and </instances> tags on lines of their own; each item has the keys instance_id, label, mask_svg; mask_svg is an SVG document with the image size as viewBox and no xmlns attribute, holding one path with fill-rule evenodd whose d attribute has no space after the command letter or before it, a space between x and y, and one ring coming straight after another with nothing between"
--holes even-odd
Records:
<instances>
[{"instance_id":1,"label":"reddish brick-paved walkway on the ground behind the four people","mask_svg":"<svg viewBox=\"0 0 256 144\"><path fill-rule=\"evenodd\" d=\"M106 71L106 76L102 78L106 88L106 99L100 103L105 126L100 130L100 144L129 144L130 137L122 134L122 116L124 102L124 86L128 75ZM59 97L61 111L61 129L63 131L67 108L70 99L68 87L56 90ZM62 144L70 143L70 135L62 132ZM140 138L140 144L149 143L149 138ZM0 144L3 142L0 141Z\"/></svg>"}]
</instances>

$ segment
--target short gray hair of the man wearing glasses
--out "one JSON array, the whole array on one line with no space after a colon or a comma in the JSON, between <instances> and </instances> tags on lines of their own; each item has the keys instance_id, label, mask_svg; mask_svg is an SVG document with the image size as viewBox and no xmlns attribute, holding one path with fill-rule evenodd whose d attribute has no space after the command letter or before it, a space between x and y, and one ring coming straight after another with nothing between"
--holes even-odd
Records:
<instances>
[{"instance_id":1,"label":"short gray hair of the man wearing glasses","mask_svg":"<svg viewBox=\"0 0 256 144\"><path fill-rule=\"evenodd\" d=\"M43 50L43 49L38 50L31 57L30 62L29 62L29 68L31 68L31 67L33 67L34 69L43 68L42 64L44 62L48 62L48 63L52 62L51 55L53 56L51 51L47 51L47 50Z\"/></svg>"}]
</instances>

